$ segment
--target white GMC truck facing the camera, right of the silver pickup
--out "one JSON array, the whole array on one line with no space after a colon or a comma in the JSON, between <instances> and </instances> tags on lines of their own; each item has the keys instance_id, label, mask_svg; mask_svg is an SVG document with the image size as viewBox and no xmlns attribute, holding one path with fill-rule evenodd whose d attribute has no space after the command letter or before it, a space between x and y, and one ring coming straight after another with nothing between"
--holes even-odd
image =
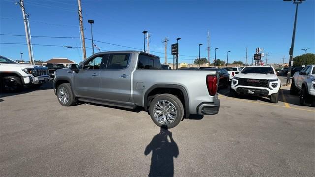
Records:
<instances>
[{"instance_id":1,"label":"white GMC truck facing the camera, right of the silver pickup","mask_svg":"<svg viewBox=\"0 0 315 177\"><path fill-rule=\"evenodd\" d=\"M270 97L271 103L278 103L281 86L272 66L248 66L231 81L232 94L247 94Z\"/></svg>"}]
</instances>

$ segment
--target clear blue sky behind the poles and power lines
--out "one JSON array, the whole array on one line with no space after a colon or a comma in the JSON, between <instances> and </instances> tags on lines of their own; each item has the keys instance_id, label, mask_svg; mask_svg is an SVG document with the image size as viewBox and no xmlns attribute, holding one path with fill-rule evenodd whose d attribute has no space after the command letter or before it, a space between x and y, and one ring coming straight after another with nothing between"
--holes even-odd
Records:
<instances>
[{"instance_id":1,"label":"clear blue sky behind the poles and power lines","mask_svg":"<svg viewBox=\"0 0 315 177\"><path fill-rule=\"evenodd\" d=\"M76 0L25 0L26 11L31 14L30 28L34 36L79 37L78 5ZM245 62L248 46L248 63L256 47L265 48L270 56L268 63L288 61L291 46L295 5L283 0L212 0L212 1L106 1L82 0L85 37L91 38L88 19L93 19L95 40L143 49L143 30L151 33L150 50L164 62L164 45L168 37L171 43L177 37L180 43L180 61L192 63L198 56L207 56L207 30L210 30L210 56L229 62ZM299 5L294 56L310 48L315 53L315 1L306 0ZM22 13L14 0L0 0L0 33L25 35ZM0 42L26 43L25 37L0 35ZM35 38L33 44L78 46L80 39ZM132 50L95 42L102 50ZM170 44L168 53L170 54ZM86 40L86 46L91 47ZM80 48L33 46L36 60L47 61L52 57L67 57L76 62L82 60ZM87 49L87 56L92 54ZM26 45L0 44L0 55L12 59L28 60ZM188 56L182 56L188 55ZM172 56L168 55L168 62Z\"/></svg>"}]
</instances>

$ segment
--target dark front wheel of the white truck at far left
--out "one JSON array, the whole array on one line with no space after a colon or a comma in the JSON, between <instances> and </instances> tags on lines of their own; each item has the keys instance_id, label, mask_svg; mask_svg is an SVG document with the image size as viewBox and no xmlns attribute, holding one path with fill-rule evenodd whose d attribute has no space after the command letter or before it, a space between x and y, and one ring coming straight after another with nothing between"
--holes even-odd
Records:
<instances>
[{"instance_id":1,"label":"dark front wheel of the white truck at far left","mask_svg":"<svg viewBox=\"0 0 315 177\"><path fill-rule=\"evenodd\" d=\"M21 78L16 76L6 76L1 79L1 91L18 92L23 88Z\"/></svg>"}]
</instances>

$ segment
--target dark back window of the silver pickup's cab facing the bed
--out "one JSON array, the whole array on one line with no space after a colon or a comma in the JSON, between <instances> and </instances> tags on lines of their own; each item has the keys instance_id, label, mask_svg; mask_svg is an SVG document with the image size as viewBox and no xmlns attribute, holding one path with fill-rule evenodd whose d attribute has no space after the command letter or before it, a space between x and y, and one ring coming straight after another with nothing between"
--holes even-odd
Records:
<instances>
[{"instance_id":1,"label":"dark back window of the silver pickup's cab facing the bed","mask_svg":"<svg viewBox=\"0 0 315 177\"><path fill-rule=\"evenodd\" d=\"M140 53L137 69L159 70L161 69L161 63L156 56Z\"/></svg>"}]
</instances>

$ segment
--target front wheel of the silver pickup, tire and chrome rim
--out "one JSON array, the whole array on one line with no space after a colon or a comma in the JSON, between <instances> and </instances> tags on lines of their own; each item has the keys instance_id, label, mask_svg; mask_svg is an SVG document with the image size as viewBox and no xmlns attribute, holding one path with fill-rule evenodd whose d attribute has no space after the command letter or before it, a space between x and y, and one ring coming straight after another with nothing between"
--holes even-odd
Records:
<instances>
[{"instance_id":1,"label":"front wheel of the silver pickup, tire and chrome rim","mask_svg":"<svg viewBox=\"0 0 315 177\"><path fill-rule=\"evenodd\" d=\"M62 94L63 93L63 94ZM68 101L66 102L67 99L62 99L63 95L68 96ZM73 106L74 104L77 103L77 99L75 98L72 90L71 90L71 85L69 83L64 83L60 84L57 88L57 100L62 106Z\"/></svg>"}]
</instances>

